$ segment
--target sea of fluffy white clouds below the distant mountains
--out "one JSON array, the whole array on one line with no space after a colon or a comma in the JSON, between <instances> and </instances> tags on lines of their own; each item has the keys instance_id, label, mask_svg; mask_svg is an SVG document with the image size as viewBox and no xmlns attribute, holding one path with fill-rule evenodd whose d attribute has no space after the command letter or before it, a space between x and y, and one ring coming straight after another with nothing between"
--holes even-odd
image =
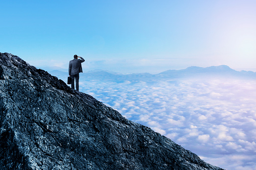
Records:
<instances>
[{"instance_id":1,"label":"sea of fluffy white clouds below the distant mountains","mask_svg":"<svg viewBox=\"0 0 256 170\"><path fill-rule=\"evenodd\" d=\"M225 169L256 169L256 80L80 81L80 90Z\"/></svg>"}]
</instances>

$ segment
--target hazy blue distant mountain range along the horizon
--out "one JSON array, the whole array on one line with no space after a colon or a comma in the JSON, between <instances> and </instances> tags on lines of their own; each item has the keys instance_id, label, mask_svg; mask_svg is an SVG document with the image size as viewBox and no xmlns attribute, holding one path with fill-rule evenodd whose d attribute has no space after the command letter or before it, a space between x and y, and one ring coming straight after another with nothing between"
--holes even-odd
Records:
<instances>
[{"instance_id":1,"label":"hazy blue distant mountain range along the horizon","mask_svg":"<svg viewBox=\"0 0 256 170\"><path fill-rule=\"evenodd\" d=\"M55 67L46 69L51 75L58 77L59 79L66 80L68 76L67 69L59 69ZM65 71L64 71L65 70ZM188 67L182 70L167 70L158 74L150 73L133 73L133 74L121 74L108 70L92 70L80 74L80 78L84 81L98 80L98 81L158 81L166 79L178 79L178 78L194 78L194 77L239 77L256 79L256 72L252 71L236 71L226 65L211 66L211 67Z\"/></svg>"}]
</instances>

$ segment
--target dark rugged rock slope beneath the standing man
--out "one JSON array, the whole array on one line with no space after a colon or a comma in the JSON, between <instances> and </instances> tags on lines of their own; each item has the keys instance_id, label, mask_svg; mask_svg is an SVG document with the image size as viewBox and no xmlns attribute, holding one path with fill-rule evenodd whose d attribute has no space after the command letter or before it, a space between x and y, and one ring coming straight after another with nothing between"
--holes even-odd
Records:
<instances>
[{"instance_id":1,"label":"dark rugged rock slope beneath the standing man","mask_svg":"<svg viewBox=\"0 0 256 170\"><path fill-rule=\"evenodd\" d=\"M221 169L0 53L0 169Z\"/></svg>"}]
</instances>

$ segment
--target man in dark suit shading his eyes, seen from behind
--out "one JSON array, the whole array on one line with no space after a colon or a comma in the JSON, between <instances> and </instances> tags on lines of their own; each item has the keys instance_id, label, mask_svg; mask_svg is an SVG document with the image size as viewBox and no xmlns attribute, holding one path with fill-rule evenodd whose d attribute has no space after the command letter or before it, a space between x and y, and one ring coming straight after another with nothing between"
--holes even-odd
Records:
<instances>
[{"instance_id":1,"label":"man in dark suit shading his eyes, seen from behind","mask_svg":"<svg viewBox=\"0 0 256 170\"><path fill-rule=\"evenodd\" d=\"M80 58L80 59L77 59ZM78 57L74 55L74 59L69 61L69 68L68 74L71 77L71 88L74 89L74 79L75 79L75 87L76 90L79 91L79 73L82 73L82 65L81 63L84 62L82 57Z\"/></svg>"}]
</instances>

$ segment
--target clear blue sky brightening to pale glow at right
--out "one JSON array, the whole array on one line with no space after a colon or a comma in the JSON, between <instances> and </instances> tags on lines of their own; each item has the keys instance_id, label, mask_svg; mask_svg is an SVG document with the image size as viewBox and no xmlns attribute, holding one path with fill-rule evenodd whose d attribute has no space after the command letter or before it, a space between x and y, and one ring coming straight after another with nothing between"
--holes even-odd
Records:
<instances>
[{"instance_id":1,"label":"clear blue sky brightening to pale glow at right","mask_svg":"<svg viewBox=\"0 0 256 170\"><path fill-rule=\"evenodd\" d=\"M36 67L256 68L256 1L1 1L0 52ZM256 71L256 70L255 70Z\"/></svg>"}]
</instances>

